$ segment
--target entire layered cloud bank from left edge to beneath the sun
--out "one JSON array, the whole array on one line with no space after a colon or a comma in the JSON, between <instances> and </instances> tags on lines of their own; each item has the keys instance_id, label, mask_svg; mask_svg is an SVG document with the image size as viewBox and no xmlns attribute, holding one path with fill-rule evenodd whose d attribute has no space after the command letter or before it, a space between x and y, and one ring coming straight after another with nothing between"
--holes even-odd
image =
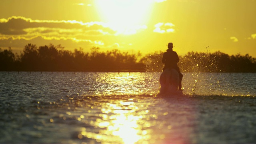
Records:
<instances>
[{"instance_id":1,"label":"entire layered cloud bank from left edge to beneath the sun","mask_svg":"<svg viewBox=\"0 0 256 144\"><path fill-rule=\"evenodd\" d=\"M22 16L0 19L0 47L20 50L28 43L44 45L62 44L66 48L91 47L124 48L117 43L123 34L136 34L146 30L146 25L115 30L104 22L81 22L77 20L33 20ZM122 37L122 36L121 36Z\"/></svg>"}]
</instances>

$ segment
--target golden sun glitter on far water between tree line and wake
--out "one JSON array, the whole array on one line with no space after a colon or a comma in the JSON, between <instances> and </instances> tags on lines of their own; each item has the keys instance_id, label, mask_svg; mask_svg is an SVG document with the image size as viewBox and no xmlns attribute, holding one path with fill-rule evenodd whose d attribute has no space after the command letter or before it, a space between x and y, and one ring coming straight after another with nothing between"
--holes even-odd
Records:
<instances>
[{"instance_id":1,"label":"golden sun glitter on far water between tree line and wake","mask_svg":"<svg viewBox=\"0 0 256 144\"><path fill-rule=\"evenodd\" d=\"M95 78L96 95L124 95L157 93L159 89L158 77L152 73L148 75L140 72L98 73Z\"/></svg>"}]
</instances>

